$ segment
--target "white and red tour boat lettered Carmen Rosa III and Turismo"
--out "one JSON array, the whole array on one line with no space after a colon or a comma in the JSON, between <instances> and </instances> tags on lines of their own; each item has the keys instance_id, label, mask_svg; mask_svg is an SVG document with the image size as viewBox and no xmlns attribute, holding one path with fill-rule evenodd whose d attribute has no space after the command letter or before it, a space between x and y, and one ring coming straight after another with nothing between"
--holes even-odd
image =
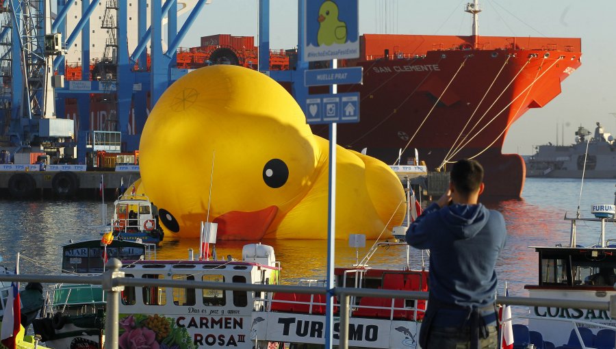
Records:
<instances>
[{"instance_id":1,"label":"white and red tour boat lettered Carmen Rosa III and Turismo","mask_svg":"<svg viewBox=\"0 0 616 349\"><path fill-rule=\"evenodd\" d=\"M381 242L378 248L409 246ZM248 244L242 259L134 261L121 269L127 277L277 285L281 267L274 249ZM426 291L427 272L403 266L398 270L369 268L365 263L335 269L336 285L367 289ZM304 280L300 285L322 286ZM120 300L120 347L142 337L149 346L222 348L300 348L324 343L323 294L274 294L183 287L125 287ZM426 301L376 297L350 299L350 346L417 348ZM339 305L335 305L335 317ZM337 341L339 324L335 320ZM140 339L141 340L141 339ZM157 344L154 344L154 341Z\"/></svg>"}]
</instances>

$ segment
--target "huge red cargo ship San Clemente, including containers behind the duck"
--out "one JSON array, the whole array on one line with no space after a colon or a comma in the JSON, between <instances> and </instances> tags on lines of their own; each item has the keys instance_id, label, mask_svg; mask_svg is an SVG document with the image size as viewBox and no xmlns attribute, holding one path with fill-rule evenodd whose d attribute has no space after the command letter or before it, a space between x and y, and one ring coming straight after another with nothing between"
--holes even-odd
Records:
<instances>
[{"instance_id":1,"label":"huge red cargo ship San Clemente, including containers behind the duck","mask_svg":"<svg viewBox=\"0 0 616 349\"><path fill-rule=\"evenodd\" d=\"M360 92L361 121L339 124L338 144L368 148L387 164L407 164L417 149L428 170L475 157L485 167L485 195L519 198L526 168L519 155L502 154L507 131L528 109L561 92L561 81L581 64L581 40L478 36L474 29L472 36L360 36L361 57L342 65L363 66L363 84L338 92ZM178 67L257 68L253 37L205 36L201 45L181 49ZM271 51L270 69L292 68L293 57L295 50ZM74 118L75 105L66 107ZM114 103L92 103L90 128L115 129L114 109ZM132 115L129 123L129 131L140 133ZM323 125L313 131L327 137Z\"/></svg>"}]
</instances>

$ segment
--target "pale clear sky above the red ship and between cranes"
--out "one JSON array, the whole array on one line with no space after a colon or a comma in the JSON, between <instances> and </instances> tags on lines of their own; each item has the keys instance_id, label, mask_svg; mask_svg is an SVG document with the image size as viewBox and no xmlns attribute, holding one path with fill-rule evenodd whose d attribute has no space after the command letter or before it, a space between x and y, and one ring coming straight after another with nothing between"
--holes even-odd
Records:
<instances>
[{"instance_id":1,"label":"pale clear sky above the red ship and between cranes","mask_svg":"<svg viewBox=\"0 0 616 349\"><path fill-rule=\"evenodd\" d=\"M359 32L467 36L472 34L472 16L463 12L467 2L359 0ZM548 105L511 126L503 153L530 155L534 146L556 144L557 138L558 144L572 144L578 126L594 131L595 122L616 133L616 1L484 0L480 6L480 35L582 38L582 66ZM214 34L256 37L257 25L257 0L212 0L181 46L198 46L201 36ZM297 1L270 0L270 48L296 46Z\"/></svg>"}]
</instances>

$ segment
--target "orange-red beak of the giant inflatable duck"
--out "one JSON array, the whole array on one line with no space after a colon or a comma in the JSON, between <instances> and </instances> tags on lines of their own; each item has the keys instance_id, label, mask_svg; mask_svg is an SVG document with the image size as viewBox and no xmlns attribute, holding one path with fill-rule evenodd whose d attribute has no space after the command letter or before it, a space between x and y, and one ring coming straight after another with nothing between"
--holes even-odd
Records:
<instances>
[{"instance_id":1,"label":"orange-red beak of the giant inflatable duck","mask_svg":"<svg viewBox=\"0 0 616 349\"><path fill-rule=\"evenodd\" d=\"M253 212L230 211L218 216L218 240L251 240L263 238L278 213L278 207L270 206Z\"/></svg>"}]
</instances>

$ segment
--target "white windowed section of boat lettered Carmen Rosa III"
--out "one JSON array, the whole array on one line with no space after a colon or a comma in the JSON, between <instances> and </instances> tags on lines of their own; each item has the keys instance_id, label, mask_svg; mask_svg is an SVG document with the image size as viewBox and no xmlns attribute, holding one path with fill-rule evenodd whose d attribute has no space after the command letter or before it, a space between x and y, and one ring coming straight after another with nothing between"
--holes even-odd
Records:
<instances>
[{"instance_id":1,"label":"white windowed section of boat lettered Carmen Rosa III","mask_svg":"<svg viewBox=\"0 0 616 349\"><path fill-rule=\"evenodd\" d=\"M270 246L248 244L242 260L136 261L121 269L125 277L274 285L279 262ZM125 286L120 295L120 336L139 329L155 331L158 346L253 348L253 311L266 307L264 292L193 287Z\"/></svg>"}]
</instances>

